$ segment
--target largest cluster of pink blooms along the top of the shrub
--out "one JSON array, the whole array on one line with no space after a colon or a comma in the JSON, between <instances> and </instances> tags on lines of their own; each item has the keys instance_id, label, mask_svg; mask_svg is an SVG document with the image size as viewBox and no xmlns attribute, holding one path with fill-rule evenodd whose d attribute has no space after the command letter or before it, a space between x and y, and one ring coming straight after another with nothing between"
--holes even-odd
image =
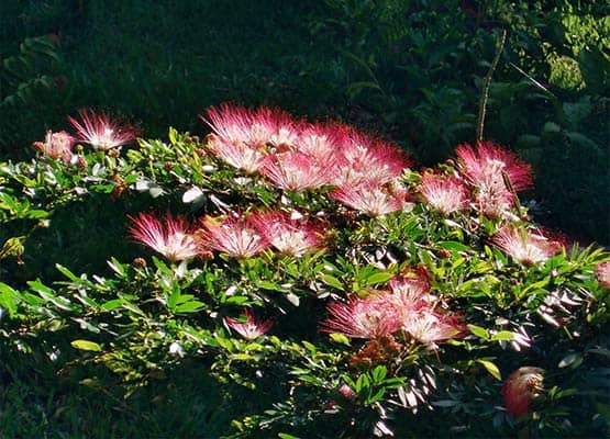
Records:
<instances>
[{"instance_id":1,"label":"largest cluster of pink blooms along the top of the shrub","mask_svg":"<svg viewBox=\"0 0 610 439\"><path fill-rule=\"evenodd\" d=\"M201 116L209 150L230 166L259 172L284 190L334 187L333 198L371 216L400 210L392 190L410 166L397 146L336 124L295 121L280 111L221 105Z\"/></svg>"}]
</instances>

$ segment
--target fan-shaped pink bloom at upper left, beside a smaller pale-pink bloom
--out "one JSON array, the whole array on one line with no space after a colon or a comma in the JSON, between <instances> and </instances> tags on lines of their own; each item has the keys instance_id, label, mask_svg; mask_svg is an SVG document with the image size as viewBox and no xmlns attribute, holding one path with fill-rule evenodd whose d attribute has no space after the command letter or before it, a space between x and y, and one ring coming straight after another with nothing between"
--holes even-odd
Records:
<instances>
[{"instance_id":1,"label":"fan-shaped pink bloom at upper left, beside a smaller pale-pink bloom","mask_svg":"<svg viewBox=\"0 0 610 439\"><path fill-rule=\"evenodd\" d=\"M82 123L68 116L68 120L78 132L78 139L88 143L97 149L111 149L129 144L136 137L135 130L131 126L121 126L108 115L93 111L79 110Z\"/></svg>"}]
</instances>

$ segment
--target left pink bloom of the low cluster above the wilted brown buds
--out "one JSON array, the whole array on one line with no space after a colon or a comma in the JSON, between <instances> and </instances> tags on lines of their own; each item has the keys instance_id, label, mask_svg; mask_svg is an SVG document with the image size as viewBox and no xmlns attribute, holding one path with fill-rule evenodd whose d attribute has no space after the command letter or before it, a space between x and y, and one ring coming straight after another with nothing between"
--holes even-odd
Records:
<instances>
[{"instance_id":1,"label":"left pink bloom of the low cluster above the wilted brown buds","mask_svg":"<svg viewBox=\"0 0 610 439\"><path fill-rule=\"evenodd\" d=\"M326 311L331 316L320 324L320 330L324 333L374 339L390 335L400 328L396 306L382 296L331 303Z\"/></svg>"}]
</instances>

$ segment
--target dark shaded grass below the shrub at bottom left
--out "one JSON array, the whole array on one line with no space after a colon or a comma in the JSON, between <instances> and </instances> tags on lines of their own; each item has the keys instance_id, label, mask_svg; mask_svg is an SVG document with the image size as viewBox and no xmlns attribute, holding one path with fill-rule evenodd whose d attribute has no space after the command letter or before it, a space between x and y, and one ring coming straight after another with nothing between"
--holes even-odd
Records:
<instances>
[{"instance_id":1,"label":"dark shaded grass below the shrub at bottom left","mask_svg":"<svg viewBox=\"0 0 610 439\"><path fill-rule=\"evenodd\" d=\"M175 370L129 399L52 370L0 370L2 438L219 438L241 412L202 364Z\"/></svg>"}]
</instances>

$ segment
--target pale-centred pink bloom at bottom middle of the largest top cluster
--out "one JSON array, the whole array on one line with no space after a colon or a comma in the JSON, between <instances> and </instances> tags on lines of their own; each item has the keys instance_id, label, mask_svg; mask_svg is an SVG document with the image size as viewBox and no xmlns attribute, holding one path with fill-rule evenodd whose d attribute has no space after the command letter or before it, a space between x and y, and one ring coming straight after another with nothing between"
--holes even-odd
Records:
<instances>
[{"instance_id":1,"label":"pale-centred pink bloom at bottom middle of the largest top cluster","mask_svg":"<svg viewBox=\"0 0 610 439\"><path fill-rule=\"evenodd\" d=\"M290 191L315 189L331 181L330 164L322 164L299 151L286 151L269 157L260 168L277 188Z\"/></svg>"}]
</instances>

